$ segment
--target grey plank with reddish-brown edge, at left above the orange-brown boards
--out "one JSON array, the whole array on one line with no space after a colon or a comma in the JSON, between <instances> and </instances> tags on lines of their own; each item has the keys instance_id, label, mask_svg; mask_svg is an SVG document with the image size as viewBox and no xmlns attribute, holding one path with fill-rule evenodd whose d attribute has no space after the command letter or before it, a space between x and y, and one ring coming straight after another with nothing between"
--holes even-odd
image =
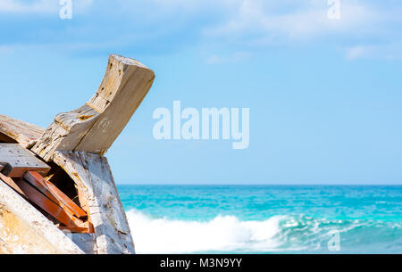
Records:
<instances>
[{"instance_id":1,"label":"grey plank with reddish-brown edge, at left above the orange-brown boards","mask_svg":"<svg viewBox=\"0 0 402 272\"><path fill-rule=\"evenodd\" d=\"M50 170L45 162L20 144L0 144L0 163L4 165L2 173L7 177L22 177L31 170L46 175Z\"/></svg>"}]
</instances>

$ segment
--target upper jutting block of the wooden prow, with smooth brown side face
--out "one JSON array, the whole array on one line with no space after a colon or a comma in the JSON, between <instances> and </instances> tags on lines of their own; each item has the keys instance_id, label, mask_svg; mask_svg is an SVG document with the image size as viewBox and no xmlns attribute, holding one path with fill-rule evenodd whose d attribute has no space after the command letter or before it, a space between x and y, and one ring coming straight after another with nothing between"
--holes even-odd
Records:
<instances>
[{"instance_id":1,"label":"upper jutting block of the wooden prow, with smooth brown side face","mask_svg":"<svg viewBox=\"0 0 402 272\"><path fill-rule=\"evenodd\" d=\"M153 70L135 60L113 55L96 95L88 102L102 116L76 151L105 154L144 100L155 79Z\"/></svg>"}]
</instances>

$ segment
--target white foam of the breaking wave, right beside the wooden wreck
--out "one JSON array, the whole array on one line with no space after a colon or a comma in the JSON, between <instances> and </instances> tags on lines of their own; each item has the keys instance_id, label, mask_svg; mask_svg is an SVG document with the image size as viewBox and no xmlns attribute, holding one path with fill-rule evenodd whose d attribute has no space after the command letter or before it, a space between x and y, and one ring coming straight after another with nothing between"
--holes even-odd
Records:
<instances>
[{"instance_id":1,"label":"white foam of the breaking wave, right beside the wooden wreck","mask_svg":"<svg viewBox=\"0 0 402 272\"><path fill-rule=\"evenodd\" d=\"M283 217L240 221L217 216L207 222L151 218L138 210L128 213L138 253L187 253L202 251L274 251L279 244Z\"/></svg>"}]
</instances>

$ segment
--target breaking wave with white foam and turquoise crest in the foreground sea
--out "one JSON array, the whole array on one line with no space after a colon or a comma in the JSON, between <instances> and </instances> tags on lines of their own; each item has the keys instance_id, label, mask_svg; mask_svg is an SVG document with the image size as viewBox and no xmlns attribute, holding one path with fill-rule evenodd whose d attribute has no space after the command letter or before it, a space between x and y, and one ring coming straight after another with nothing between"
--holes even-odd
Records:
<instances>
[{"instance_id":1,"label":"breaking wave with white foam and turquoise crest in the foreground sea","mask_svg":"<svg viewBox=\"0 0 402 272\"><path fill-rule=\"evenodd\" d=\"M402 226L392 222L288 215L203 222L154 218L139 210L127 216L138 253L328 252L335 233L343 252L402 252Z\"/></svg>"}]
</instances>

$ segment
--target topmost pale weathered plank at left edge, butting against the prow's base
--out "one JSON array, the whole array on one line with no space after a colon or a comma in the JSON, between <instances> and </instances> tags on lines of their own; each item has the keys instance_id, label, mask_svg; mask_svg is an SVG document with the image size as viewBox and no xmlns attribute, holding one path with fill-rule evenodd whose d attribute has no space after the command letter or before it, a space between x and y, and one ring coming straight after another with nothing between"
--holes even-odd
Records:
<instances>
[{"instance_id":1,"label":"topmost pale weathered plank at left edge, butting against the prow's base","mask_svg":"<svg viewBox=\"0 0 402 272\"><path fill-rule=\"evenodd\" d=\"M30 148L44 132L45 128L0 114L0 138L1 134L4 134L22 147Z\"/></svg>"}]
</instances>

